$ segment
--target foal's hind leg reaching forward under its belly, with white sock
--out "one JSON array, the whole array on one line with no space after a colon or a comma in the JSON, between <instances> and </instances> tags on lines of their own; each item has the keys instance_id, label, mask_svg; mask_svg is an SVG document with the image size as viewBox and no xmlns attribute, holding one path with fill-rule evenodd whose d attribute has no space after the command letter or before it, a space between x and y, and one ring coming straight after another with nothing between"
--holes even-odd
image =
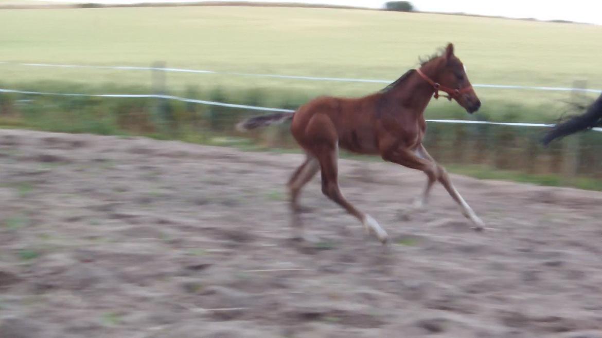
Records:
<instances>
[{"instance_id":1,"label":"foal's hind leg reaching forward under its belly, with white sock","mask_svg":"<svg viewBox=\"0 0 602 338\"><path fill-rule=\"evenodd\" d=\"M358 220L364 224L364 229L366 229L367 232L370 232L370 230L373 231L380 242L383 244L386 243L388 235L385 230L383 230L370 215L364 214L356 209L356 207L349 203L341 193L338 186L338 146L320 147L317 150L315 155L318 158L318 161L320 161L322 192L324 195L342 206L349 214L358 218Z\"/></svg>"}]
</instances>

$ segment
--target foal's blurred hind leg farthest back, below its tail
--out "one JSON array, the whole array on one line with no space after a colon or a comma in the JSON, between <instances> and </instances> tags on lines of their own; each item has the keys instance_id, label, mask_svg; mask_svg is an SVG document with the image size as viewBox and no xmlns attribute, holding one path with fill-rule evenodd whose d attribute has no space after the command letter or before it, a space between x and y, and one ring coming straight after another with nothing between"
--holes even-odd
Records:
<instances>
[{"instance_id":1,"label":"foal's blurred hind leg farthest back, below its tail","mask_svg":"<svg viewBox=\"0 0 602 338\"><path fill-rule=\"evenodd\" d=\"M291 194L291 214L293 216L292 227L293 227L293 238L301 239L302 234L302 224L300 220L300 212L301 208L299 206L299 193L301 192L301 188L306 185L312 177L318 172L320 165L318 164L318 160L313 156L308 155L303 162L302 165L295 170L293 176L291 176L290 180L288 180L288 189Z\"/></svg>"}]
</instances>

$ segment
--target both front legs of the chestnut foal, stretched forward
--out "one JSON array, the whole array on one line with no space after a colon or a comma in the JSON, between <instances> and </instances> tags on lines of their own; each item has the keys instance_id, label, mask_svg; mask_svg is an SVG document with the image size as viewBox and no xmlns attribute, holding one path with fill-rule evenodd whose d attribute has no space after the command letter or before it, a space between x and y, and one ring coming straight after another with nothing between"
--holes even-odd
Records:
<instances>
[{"instance_id":1,"label":"both front legs of the chestnut foal, stretched forward","mask_svg":"<svg viewBox=\"0 0 602 338\"><path fill-rule=\"evenodd\" d=\"M400 147L399 149L393 152L387 152L383 154L383 159L386 161L391 161L393 163L401 164L405 167L417 169L424 171L426 176L428 177L428 181L426 183L426 187L424 188L423 194L421 196L421 202L425 202L429 197L430 189L432 188L435 180L438 180L441 185L444 186L445 190L447 190L448 194L459 204L462 208L462 215L471 220L474 224L475 230L483 230L483 221L480 220L479 217L474 213L473 209L466 203L464 198L459 194L456 188L452 185L452 181L450 180L447 171L437 162L435 162L430 155L426 152L424 147L419 147L420 152L424 155L425 158L418 156L416 153L412 152L409 149ZM428 159L427 159L428 158ZM429 161L430 159L430 161Z\"/></svg>"}]
</instances>

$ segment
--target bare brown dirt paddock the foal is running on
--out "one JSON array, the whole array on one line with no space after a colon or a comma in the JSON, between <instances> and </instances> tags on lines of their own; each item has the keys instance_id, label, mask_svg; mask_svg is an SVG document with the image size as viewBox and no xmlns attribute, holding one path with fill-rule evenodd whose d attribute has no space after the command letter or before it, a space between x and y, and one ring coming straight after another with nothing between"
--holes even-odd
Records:
<instances>
[{"instance_id":1,"label":"bare brown dirt paddock the foal is running on","mask_svg":"<svg viewBox=\"0 0 602 338\"><path fill-rule=\"evenodd\" d=\"M301 155L0 131L0 337L602 337L602 194L340 161L390 244L303 191Z\"/></svg>"}]
</instances>

